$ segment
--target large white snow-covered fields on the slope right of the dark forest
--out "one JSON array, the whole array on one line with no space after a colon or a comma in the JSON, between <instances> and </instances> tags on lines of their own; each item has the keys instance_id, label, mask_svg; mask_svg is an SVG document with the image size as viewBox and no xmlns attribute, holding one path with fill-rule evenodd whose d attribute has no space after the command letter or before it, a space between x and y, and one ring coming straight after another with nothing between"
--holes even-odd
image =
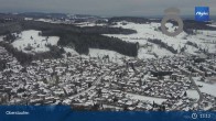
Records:
<instances>
[{"instance_id":1,"label":"large white snow-covered fields on the slope right of the dark forest","mask_svg":"<svg viewBox=\"0 0 216 121\"><path fill-rule=\"evenodd\" d=\"M114 28L132 29L136 30L138 33L130 34L130 35L120 35L120 34L105 34L105 35L119 37L127 42L133 42L133 43L139 42L139 44L141 45L138 54L139 58L152 57L151 54L149 54L148 52L155 53L158 56L173 55L171 52L164 48L160 48L155 44L152 44L151 48L147 48L147 47L143 48L142 46L149 43L147 41L148 38L162 40L162 42L168 43L168 45L173 46L179 52L182 47L186 45L187 41L196 43L202 48L208 48L210 53L216 52L216 44L213 43L216 41L215 37L213 37L214 35L216 36L216 31L198 30L196 35L187 35L185 32L182 32L180 35L175 37L171 37L164 35L161 31L158 30L160 25L161 25L160 23L153 23L153 22L149 24L136 24L136 23L127 22L127 25L122 25L121 22L118 22L118 24L114 25ZM166 23L166 26L170 31L173 31L176 28L173 26L171 23ZM186 45L185 53L196 54L195 52L197 51L198 51L197 48Z\"/></svg>"}]
</instances>

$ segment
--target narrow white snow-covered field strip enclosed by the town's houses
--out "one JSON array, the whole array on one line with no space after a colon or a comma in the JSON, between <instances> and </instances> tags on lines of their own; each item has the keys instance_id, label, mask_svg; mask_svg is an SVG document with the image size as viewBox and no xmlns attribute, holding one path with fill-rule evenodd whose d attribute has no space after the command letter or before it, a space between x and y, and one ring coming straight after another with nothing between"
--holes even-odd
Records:
<instances>
[{"instance_id":1,"label":"narrow white snow-covered field strip enclosed by the town's houses","mask_svg":"<svg viewBox=\"0 0 216 121\"><path fill-rule=\"evenodd\" d=\"M140 96L134 94L127 94L127 97L129 97L130 99L142 100L148 102L154 101L158 105L161 105L162 102L166 101L166 99L162 99L162 98L147 97L147 96Z\"/></svg>"}]
</instances>

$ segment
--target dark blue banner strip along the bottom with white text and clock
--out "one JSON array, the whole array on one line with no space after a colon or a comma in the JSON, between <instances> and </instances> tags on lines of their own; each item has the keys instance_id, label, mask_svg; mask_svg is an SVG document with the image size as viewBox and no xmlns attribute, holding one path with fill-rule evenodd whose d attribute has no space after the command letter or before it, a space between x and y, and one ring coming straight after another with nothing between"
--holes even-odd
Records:
<instances>
[{"instance_id":1,"label":"dark blue banner strip along the bottom with white text and clock","mask_svg":"<svg viewBox=\"0 0 216 121\"><path fill-rule=\"evenodd\" d=\"M0 121L216 121L216 112L74 111L67 106L0 106Z\"/></svg>"}]
</instances>

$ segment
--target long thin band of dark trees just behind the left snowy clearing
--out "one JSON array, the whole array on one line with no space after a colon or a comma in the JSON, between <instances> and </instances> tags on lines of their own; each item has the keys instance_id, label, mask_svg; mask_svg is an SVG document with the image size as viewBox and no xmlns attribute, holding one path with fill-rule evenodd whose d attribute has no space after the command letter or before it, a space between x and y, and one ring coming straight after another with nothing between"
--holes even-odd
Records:
<instances>
[{"instance_id":1,"label":"long thin band of dark trees just behind the left snowy clearing","mask_svg":"<svg viewBox=\"0 0 216 121\"><path fill-rule=\"evenodd\" d=\"M23 21L21 22L23 30L39 30L39 31L62 31L71 33L85 33L85 34L133 34L134 30L122 28L109 28L109 26L75 26L69 24L53 24L36 21Z\"/></svg>"}]
</instances>

